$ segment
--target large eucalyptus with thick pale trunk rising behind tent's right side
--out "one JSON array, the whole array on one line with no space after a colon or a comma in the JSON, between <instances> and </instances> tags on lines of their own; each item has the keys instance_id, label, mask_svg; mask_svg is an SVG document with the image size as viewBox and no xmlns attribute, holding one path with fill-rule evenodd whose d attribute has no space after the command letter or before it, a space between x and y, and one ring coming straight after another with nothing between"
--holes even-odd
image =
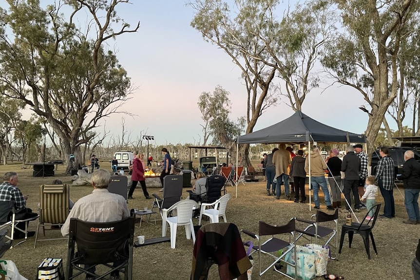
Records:
<instances>
[{"instance_id":1,"label":"large eucalyptus with thick pale trunk rising behind tent's right side","mask_svg":"<svg viewBox=\"0 0 420 280\"><path fill-rule=\"evenodd\" d=\"M323 1L323 0L321 0ZM415 0L329 0L341 12L341 36L328 45L323 65L337 82L363 95L371 107L366 136L375 142L398 93L398 58ZM414 19L414 18L413 18ZM372 151L372 147L369 147Z\"/></svg>"}]
</instances>

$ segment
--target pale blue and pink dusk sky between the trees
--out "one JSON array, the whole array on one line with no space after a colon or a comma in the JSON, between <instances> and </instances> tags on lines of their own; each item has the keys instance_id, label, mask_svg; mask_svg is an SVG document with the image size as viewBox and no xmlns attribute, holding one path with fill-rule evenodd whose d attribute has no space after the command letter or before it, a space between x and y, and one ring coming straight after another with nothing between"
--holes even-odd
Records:
<instances>
[{"instance_id":1,"label":"pale blue and pink dusk sky between the trees","mask_svg":"<svg viewBox=\"0 0 420 280\"><path fill-rule=\"evenodd\" d=\"M205 42L191 27L191 7L183 0L132 2L119 4L117 14L132 27L140 21L138 32L123 34L108 44L117 50L119 62L136 88L132 99L119 110L138 116L112 115L103 122L106 130L121 134L124 117L132 138L147 134L154 136L151 143L155 145L202 144L198 96L212 92L217 85L230 92L231 119L245 116L247 93L240 71L223 50ZM331 83L324 82L324 87ZM293 110L284 101L267 109L254 131L292 115ZM363 133L368 115L359 110L361 105L365 103L360 93L333 85L309 93L302 112L326 125Z\"/></svg>"}]
</instances>

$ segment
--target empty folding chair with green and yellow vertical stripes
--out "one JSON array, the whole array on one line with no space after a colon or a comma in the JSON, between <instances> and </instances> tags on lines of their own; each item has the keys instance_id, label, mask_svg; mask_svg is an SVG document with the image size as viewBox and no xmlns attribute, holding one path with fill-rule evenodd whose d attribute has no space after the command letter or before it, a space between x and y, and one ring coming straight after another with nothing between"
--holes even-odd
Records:
<instances>
[{"instance_id":1,"label":"empty folding chair with green and yellow vertical stripes","mask_svg":"<svg viewBox=\"0 0 420 280\"><path fill-rule=\"evenodd\" d=\"M38 241L60 240L63 238L39 239L39 226L45 237L45 230L59 230L69 215L70 191L69 185L41 185L39 187L39 221L37 226L37 234L35 235L34 248L37 247ZM50 228L45 229L48 226ZM55 226L56 228L51 228ZM60 234L61 235L61 234Z\"/></svg>"}]
</instances>

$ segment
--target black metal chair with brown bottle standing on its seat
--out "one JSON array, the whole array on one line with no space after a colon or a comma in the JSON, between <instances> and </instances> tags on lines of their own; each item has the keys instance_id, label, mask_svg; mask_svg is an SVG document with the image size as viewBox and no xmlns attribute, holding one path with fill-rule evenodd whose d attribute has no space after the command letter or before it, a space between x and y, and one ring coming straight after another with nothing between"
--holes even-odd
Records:
<instances>
[{"instance_id":1,"label":"black metal chair with brown bottle standing on its seat","mask_svg":"<svg viewBox=\"0 0 420 280\"><path fill-rule=\"evenodd\" d=\"M369 214L371 209L375 208L375 214L373 214L373 219L366 220L367 215ZM341 239L340 239L340 248L339 254L341 254L341 249L343 248L343 241L344 236L348 233L348 247L351 248L351 243L353 241L354 233L358 233L363 237L364 248L366 249L367 258L370 260L370 247L369 247L369 236L372 240L373 249L375 250L376 255L378 255L378 251L376 250L375 240L373 239L372 229L375 226L376 219L379 215L379 209L381 208L381 204L374 205L372 208L367 210L366 215L363 218L362 223L351 223L351 225L343 224L341 230ZM367 221L367 223L365 223Z\"/></svg>"}]
</instances>

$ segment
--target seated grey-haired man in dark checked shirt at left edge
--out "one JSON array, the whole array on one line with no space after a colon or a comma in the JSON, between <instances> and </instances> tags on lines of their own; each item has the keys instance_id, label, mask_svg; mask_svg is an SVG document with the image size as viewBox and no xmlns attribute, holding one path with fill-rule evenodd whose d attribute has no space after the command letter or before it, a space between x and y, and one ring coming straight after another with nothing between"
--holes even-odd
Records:
<instances>
[{"instance_id":1,"label":"seated grey-haired man in dark checked shirt at left edge","mask_svg":"<svg viewBox=\"0 0 420 280\"><path fill-rule=\"evenodd\" d=\"M32 209L26 208L26 200L28 197L23 195L18 185L18 173L7 172L3 177L3 184L0 185L0 201L13 201L15 204L16 220L25 220L33 218L38 214L32 213ZM11 220L12 212L8 215L8 221ZM28 222L29 223L29 222ZM25 224L19 223L16 227L25 230ZM35 231L29 231L28 237L34 236ZM25 238L25 234L19 230L15 230L13 239Z\"/></svg>"}]
</instances>

